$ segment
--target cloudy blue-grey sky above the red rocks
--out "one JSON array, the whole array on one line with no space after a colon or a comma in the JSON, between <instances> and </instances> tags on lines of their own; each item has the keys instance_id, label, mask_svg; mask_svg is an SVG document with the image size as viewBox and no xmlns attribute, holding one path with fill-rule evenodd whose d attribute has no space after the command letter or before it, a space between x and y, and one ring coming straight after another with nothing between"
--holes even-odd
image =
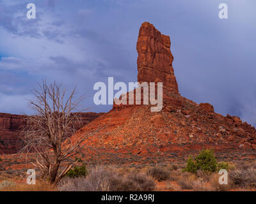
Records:
<instances>
[{"instance_id":1,"label":"cloudy blue-grey sky above the red rocks","mask_svg":"<svg viewBox=\"0 0 256 204\"><path fill-rule=\"evenodd\" d=\"M193 2L193 3L192 3ZM36 19L27 19L35 3ZM220 3L228 19L218 17ZM256 124L255 0L0 0L0 112L31 113L43 77L88 98L93 85L136 81L142 22L170 36L182 96Z\"/></svg>"}]
</instances>

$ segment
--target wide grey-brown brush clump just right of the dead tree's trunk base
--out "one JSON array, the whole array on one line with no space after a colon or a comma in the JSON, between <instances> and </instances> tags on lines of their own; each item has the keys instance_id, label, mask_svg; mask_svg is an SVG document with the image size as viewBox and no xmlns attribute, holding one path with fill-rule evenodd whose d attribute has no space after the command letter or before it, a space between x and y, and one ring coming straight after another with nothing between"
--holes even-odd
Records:
<instances>
[{"instance_id":1,"label":"wide grey-brown brush clump just right of the dead tree's trunk base","mask_svg":"<svg viewBox=\"0 0 256 204\"><path fill-rule=\"evenodd\" d=\"M82 179L63 179L60 191L153 191L154 180L142 173L130 173L126 177L113 167L95 166Z\"/></svg>"}]
</instances>

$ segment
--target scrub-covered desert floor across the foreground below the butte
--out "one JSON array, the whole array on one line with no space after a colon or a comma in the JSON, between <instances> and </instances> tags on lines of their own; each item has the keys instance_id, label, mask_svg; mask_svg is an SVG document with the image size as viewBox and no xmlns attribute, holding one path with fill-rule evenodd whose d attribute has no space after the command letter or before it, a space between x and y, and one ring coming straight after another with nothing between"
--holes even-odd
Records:
<instances>
[{"instance_id":1,"label":"scrub-covered desert floor across the foreground below the butte","mask_svg":"<svg viewBox=\"0 0 256 204\"><path fill-rule=\"evenodd\" d=\"M10 167L0 171L0 191L255 191L255 164L252 161L221 162L217 164L216 172L199 169L196 173L182 173L186 164L180 162L125 166L80 164L72 168L70 177L66 176L58 183L57 189L40 180L36 180L36 185L24 184L26 180L21 181L20 175L26 179L26 169ZM174 165L177 168L173 169ZM226 167L228 184L220 184L218 170ZM168 173L168 179L163 172Z\"/></svg>"}]
</instances>

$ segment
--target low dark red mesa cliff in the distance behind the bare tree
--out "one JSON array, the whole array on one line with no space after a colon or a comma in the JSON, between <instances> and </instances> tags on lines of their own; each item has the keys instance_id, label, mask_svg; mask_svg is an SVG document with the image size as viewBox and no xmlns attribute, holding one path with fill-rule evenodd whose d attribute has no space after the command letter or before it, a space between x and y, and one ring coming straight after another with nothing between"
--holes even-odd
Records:
<instances>
[{"instance_id":1,"label":"low dark red mesa cliff in the distance behind the bare tree","mask_svg":"<svg viewBox=\"0 0 256 204\"><path fill-rule=\"evenodd\" d=\"M77 129L102 115L102 113L93 112L80 114L82 124L77 124ZM19 132L24 124L26 124L26 117L23 115L0 113L0 154L15 154L23 147Z\"/></svg>"}]
</instances>

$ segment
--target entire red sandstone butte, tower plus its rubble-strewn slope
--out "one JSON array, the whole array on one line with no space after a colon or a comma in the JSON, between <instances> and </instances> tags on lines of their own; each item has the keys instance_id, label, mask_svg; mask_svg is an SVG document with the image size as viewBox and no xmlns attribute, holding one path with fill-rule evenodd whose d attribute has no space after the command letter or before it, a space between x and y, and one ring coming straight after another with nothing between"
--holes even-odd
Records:
<instances>
[{"instance_id":1,"label":"entire red sandstone butte, tower plus its rubble-strewn slope","mask_svg":"<svg viewBox=\"0 0 256 204\"><path fill-rule=\"evenodd\" d=\"M239 117L224 117L209 103L199 105L179 94L170 37L144 22L137 42L138 82L163 82L163 109L150 105L113 105L77 136L104 127L86 140L88 163L184 162L189 154L214 149L218 159L255 159L256 130Z\"/></svg>"}]
</instances>

